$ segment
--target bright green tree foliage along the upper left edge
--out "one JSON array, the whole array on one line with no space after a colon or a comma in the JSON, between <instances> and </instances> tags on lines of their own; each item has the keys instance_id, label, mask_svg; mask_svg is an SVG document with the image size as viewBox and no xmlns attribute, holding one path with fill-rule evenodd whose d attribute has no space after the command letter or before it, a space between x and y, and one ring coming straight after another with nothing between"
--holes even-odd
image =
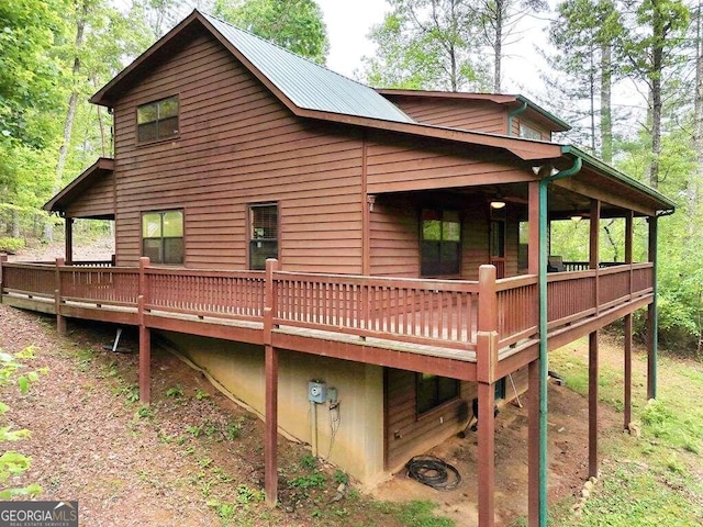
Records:
<instances>
[{"instance_id":1,"label":"bright green tree foliage along the upper left edge","mask_svg":"<svg viewBox=\"0 0 703 527\"><path fill-rule=\"evenodd\" d=\"M46 159L66 79L54 54L65 32L64 0L0 2L0 225L18 235L48 195Z\"/></svg>"}]
</instances>

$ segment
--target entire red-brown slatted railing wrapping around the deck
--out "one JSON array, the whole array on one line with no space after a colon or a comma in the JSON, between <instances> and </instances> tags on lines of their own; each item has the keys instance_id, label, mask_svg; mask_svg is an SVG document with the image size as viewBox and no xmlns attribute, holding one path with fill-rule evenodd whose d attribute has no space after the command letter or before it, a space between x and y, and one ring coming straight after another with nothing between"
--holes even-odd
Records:
<instances>
[{"instance_id":1,"label":"entire red-brown slatted railing wrapping around the deck","mask_svg":"<svg viewBox=\"0 0 703 527\"><path fill-rule=\"evenodd\" d=\"M477 350L479 317L505 348L538 333L536 276L490 283L269 271L149 267L0 266L0 293L154 315L264 323L271 282L272 327L333 332L359 338ZM651 264L549 273L548 329L584 319L652 291ZM481 294L479 294L481 291ZM143 299L140 303L140 298ZM492 314L491 314L492 313ZM496 316L495 316L496 315ZM103 317L104 318L104 317ZM212 322L212 321L211 321ZM487 325L482 327L486 329Z\"/></svg>"}]
</instances>

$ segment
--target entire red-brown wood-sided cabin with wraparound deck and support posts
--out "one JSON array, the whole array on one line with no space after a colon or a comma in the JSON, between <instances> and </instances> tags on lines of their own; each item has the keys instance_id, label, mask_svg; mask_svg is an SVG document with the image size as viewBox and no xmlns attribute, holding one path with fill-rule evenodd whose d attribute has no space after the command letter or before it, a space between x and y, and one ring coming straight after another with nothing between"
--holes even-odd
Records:
<instances>
[{"instance_id":1,"label":"entire red-brown wood-sided cabin with wraparound deck and support posts","mask_svg":"<svg viewBox=\"0 0 703 527\"><path fill-rule=\"evenodd\" d=\"M655 394L657 218L673 203L553 143L568 126L529 100L373 90L193 11L91 101L114 116L114 158L45 205L66 220L66 257L3 261L2 302L53 313L59 330L138 326L145 402L153 334L168 339L266 421L269 503L279 429L373 484L464 429L478 397L472 486L492 526L492 408L510 375L539 395L525 489L538 525L548 350L590 336L591 473L598 330L624 319L629 360L640 309ZM547 273L549 225L577 213L589 261ZM625 258L604 266L612 217ZM74 261L74 218L114 221L112 262Z\"/></svg>"}]
</instances>

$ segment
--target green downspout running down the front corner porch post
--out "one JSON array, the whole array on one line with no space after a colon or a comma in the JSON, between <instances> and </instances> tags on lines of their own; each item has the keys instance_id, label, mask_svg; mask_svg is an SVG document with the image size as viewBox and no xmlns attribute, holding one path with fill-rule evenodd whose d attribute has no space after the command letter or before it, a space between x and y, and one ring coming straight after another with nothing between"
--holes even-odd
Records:
<instances>
[{"instance_id":1,"label":"green downspout running down the front corner porch post","mask_svg":"<svg viewBox=\"0 0 703 527\"><path fill-rule=\"evenodd\" d=\"M547 187L553 181L570 178L581 170L583 161L573 159L571 168L539 180L539 526L547 525Z\"/></svg>"}]
</instances>

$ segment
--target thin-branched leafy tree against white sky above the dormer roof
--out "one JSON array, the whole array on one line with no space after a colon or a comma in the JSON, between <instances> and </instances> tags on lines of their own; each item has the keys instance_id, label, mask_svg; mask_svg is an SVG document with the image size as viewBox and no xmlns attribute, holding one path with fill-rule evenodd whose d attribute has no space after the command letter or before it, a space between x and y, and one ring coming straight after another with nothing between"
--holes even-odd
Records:
<instances>
[{"instance_id":1,"label":"thin-branched leafy tree against white sky above the dormer roof","mask_svg":"<svg viewBox=\"0 0 703 527\"><path fill-rule=\"evenodd\" d=\"M377 45L364 75L384 88L477 90L490 86L480 53L480 14L467 0L387 0L391 11L371 30Z\"/></svg>"}]
</instances>

